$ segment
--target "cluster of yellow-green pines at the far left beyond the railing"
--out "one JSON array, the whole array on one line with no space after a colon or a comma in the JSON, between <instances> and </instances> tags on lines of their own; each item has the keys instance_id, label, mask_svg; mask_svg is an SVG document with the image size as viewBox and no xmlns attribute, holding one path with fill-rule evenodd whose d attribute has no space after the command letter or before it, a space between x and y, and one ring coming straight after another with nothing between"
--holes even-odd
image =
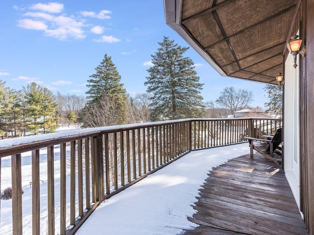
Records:
<instances>
[{"instance_id":1,"label":"cluster of yellow-green pines at the far left beyond the railing","mask_svg":"<svg viewBox=\"0 0 314 235\"><path fill-rule=\"evenodd\" d=\"M52 92L35 82L22 90L5 86L0 80L0 136L17 137L31 131L38 134L53 132L57 127L55 107L57 103Z\"/></svg>"}]
</instances>

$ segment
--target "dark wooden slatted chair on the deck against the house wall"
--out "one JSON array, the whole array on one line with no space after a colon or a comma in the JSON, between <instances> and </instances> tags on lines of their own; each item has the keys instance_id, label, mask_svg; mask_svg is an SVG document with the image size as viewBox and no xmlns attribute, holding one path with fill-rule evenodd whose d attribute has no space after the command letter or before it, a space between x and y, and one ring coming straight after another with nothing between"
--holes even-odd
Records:
<instances>
[{"instance_id":1,"label":"dark wooden slatted chair on the deck against the house wall","mask_svg":"<svg viewBox=\"0 0 314 235\"><path fill-rule=\"evenodd\" d=\"M258 151L271 161L275 162L276 164L282 163L281 158L275 157L275 155L281 157L281 153L280 152L274 153L276 149L279 148L279 145L282 142L282 128L279 128L273 137L267 136L266 140L252 137L244 138L249 141L251 158L253 158L253 149L255 149L256 151Z\"/></svg>"}]
</instances>

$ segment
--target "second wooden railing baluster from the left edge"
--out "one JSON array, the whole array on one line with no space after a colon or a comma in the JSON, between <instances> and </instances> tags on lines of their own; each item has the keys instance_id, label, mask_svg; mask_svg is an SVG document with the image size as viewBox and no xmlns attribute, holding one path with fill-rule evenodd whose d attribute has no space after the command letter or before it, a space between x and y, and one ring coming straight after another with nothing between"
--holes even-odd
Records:
<instances>
[{"instance_id":1,"label":"second wooden railing baluster from the left edge","mask_svg":"<svg viewBox=\"0 0 314 235\"><path fill-rule=\"evenodd\" d=\"M40 234L39 149L33 150L31 152L31 185L32 185L31 191L32 191L32 220L33 220L32 232L33 234Z\"/></svg>"}]
</instances>

